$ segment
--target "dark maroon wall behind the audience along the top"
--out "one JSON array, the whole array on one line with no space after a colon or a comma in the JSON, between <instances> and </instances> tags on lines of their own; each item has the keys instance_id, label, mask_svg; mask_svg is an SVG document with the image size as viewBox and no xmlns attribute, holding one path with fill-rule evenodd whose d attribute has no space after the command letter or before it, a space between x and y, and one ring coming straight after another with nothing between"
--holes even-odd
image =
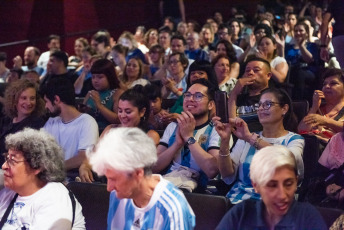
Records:
<instances>
[{"instance_id":1,"label":"dark maroon wall behind the audience along the top","mask_svg":"<svg viewBox=\"0 0 344 230\"><path fill-rule=\"evenodd\" d=\"M214 11L228 20L229 9L236 6L254 14L257 0L186 0L186 19L204 23ZM47 50L50 34L61 36L61 49L73 54L74 40L89 39L97 30L107 29L117 40L124 30L136 26L161 26L159 0L1 0L0 51L12 58L23 55L25 47L34 45Z\"/></svg>"}]
</instances>

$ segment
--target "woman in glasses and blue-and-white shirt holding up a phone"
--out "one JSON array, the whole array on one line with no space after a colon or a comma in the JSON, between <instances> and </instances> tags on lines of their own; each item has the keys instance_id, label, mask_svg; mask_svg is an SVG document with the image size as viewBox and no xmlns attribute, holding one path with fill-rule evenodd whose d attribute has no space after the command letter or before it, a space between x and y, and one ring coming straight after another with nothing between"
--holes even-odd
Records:
<instances>
[{"instance_id":1,"label":"woman in glasses and blue-and-white shirt holding up a phone","mask_svg":"<svg viewBox=\"0 0 344 230\"><path fill-rule=\"evenodd\" d=\"M259 149L271 145L284 145L295 156L299 178L303 178L302 153L303 138L285 129L293 120L291 100L288 94L281 89L269 88L262 91L258 118L263 126L263 131L251 133L247 124L240 118L230 119L223 124L219 117L214 117L213 122L221 137L219 153L219 169L223 180L227 184L234 183L227 194L232 203L236 204L246 199L260 199L255 192L249 177L249 167L253 155ZM238 137L232 151L229 151L231 134Z\"/></svg>"}]
</instances>

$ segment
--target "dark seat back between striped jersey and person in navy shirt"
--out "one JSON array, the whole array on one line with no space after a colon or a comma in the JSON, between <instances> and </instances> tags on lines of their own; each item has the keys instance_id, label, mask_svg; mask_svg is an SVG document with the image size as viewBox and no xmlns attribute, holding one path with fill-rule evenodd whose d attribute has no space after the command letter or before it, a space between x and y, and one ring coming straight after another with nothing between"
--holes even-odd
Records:
<instances>
[{"instance_id":1,"label":"dark seat back between striped jersey and person in navy shirt","mask_svg":"<svg viewBox=\"0 0 344 230\"><path fill-rule=\"evenodd\" d=\"M224 196L185 193L187 201L196 215L195 230L215 229L222 217L232 207Z\"/></svg>"}]
</instances>

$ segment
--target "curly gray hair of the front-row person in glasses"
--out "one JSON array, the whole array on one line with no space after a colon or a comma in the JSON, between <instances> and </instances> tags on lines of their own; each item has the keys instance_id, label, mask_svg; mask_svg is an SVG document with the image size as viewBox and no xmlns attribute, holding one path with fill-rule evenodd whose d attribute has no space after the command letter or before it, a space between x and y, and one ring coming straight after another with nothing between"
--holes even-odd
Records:
<instances>
[{"instance_id":1,"label":"curly gray hair of the front-row person in glasses","mask_svg":"<svg viewBox=\"0 0 344 230\"><path fill-rule=\"evenodd\" d=\"M64 153L53 136L43 129L25 128L6 137L6 148L23 153L37 177L44 182L61 182L65 178Z\"/></svg>"}]
</instances>

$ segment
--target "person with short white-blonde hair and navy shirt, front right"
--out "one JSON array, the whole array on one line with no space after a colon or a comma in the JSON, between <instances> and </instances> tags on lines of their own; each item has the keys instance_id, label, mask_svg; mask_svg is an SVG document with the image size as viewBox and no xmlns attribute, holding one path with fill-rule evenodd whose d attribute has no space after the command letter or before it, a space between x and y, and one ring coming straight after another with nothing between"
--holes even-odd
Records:
<instances>
[{"instance_id":1,"label":"person with short white-blonde hair and navy shirt, front right","mask_svg":"<svg viewBox=\"0 0 344 230\"><path fill-rule=\"evenodd\" d=\"M328 229L320 213L294 200L297 164L284 146L268 146L252 158L250 178L262 200L246 200L229 210L217 230Z\"/></svg>"}]
</instances>

